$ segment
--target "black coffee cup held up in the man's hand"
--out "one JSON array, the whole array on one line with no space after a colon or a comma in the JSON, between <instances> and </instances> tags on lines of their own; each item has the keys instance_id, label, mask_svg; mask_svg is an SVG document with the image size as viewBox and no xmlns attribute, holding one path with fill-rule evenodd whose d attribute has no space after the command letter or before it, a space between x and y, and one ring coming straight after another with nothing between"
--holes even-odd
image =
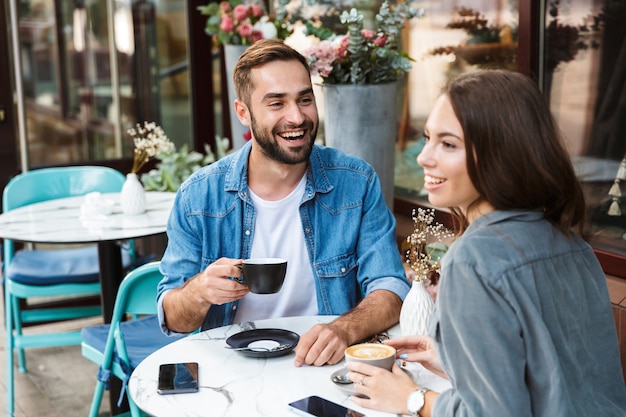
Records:
<instances>
[{"instance_id":1,"label":"black coffee cup held up in the man's hand","mask_svg":"<svg viewBox=\"0 0 626 417\"><path fill-rule=\"evenodd\" d=\"M255 294L274 294L280 291L287 273L287 260L281 258L244 259L240 282Z\"/></svg>"}]
</instances>

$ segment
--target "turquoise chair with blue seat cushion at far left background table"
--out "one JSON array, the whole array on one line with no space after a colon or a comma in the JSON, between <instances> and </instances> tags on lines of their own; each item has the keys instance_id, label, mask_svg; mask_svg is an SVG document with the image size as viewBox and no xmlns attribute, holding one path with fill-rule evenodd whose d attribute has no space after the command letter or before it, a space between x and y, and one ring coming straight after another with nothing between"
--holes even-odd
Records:
<instances>
[{"instance_id":1,"label":"turquoise chair with blue seat cushion at far left background table","mask_svg":"<svg viewBox=\"0 0 626 417\"><path fill-rule=\"evenodd\" d=\"M4 188L2 210L8 212L32 203L89 192L119 192L125 177L107 167L81 166L44 168L17 175ZM132 242L125 250L125 267L131 266ZM25 323L41 323L102 314L100 306L22 308L29 298L89 296L100 294L98 251L95 245L69 249L22 249L4 239L3 275L6 319L7 409L14 412L14 350L19 370L26 372L25 348L78 345L80 331L24 335Z\"/></svg>"}]
</instances>

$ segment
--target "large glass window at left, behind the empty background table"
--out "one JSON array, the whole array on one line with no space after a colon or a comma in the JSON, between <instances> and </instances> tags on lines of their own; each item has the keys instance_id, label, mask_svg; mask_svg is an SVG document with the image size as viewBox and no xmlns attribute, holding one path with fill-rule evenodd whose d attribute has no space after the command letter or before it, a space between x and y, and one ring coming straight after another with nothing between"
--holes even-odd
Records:
<instances>
[{"instance_id":1,"label":"large glass window at left, behind the empty background table","mask_svg":"<svg viewBox=\"0 0 626 417\"><path fill-rule=\"evenodd\" d=\"M18 3L33 167L130 158L143 121L192 144L186 2L111 3Z\"/></svg>"}]
</instances>

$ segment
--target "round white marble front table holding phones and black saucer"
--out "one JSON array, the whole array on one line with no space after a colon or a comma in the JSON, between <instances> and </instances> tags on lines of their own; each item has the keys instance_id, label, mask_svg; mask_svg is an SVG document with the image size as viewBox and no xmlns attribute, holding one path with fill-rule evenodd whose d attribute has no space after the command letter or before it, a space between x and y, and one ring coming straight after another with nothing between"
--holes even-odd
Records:
<instances>
[{"instance_id":1,"label":"round white marble front table holding phones and black saucer","mask_svg":"<svg viewBox=\"0 0 626 417\"><path fill-rule=\"evenodd\" d=\"M259 320L245 325L232 325L207 330L176 341L148 356L133 372L128 389L137 405L150 415L165 416L267 416L293 417L288 409L291 401L309 395L319 395L368 417L391 416L355 405L330 380L331 374L345 366L345 361L333 366L293 365L294 353L258 359L225 348L226 339L248 329L277 328L302 335L315 323L329 322L335 316L306 316ZM400 334L399 326L389 330L390 336ZM198 362L200 390L192 394L160 395L156 392L158 369L162 363ZM419 366L419 365L415 365ZM414 378L420 384L438 391L449 382L426 371L414 368Z\"/></svg>"}]
</instances>

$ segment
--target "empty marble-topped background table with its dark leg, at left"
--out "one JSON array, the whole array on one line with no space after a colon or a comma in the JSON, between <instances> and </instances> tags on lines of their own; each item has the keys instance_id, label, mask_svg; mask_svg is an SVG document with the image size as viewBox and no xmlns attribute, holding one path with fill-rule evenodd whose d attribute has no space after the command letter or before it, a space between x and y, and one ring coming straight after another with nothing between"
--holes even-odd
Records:
<instances>
[{"instance_id":1,"label":"empty marble-topped background table with its dark leg, at left","mask_svg":"<svg viewBox=\"0 0 626 417\"><path fill-rule=\"evenodd\" d=\"M108 215L81 216L85 196L30 204L0 215L0 237L31 243L97 243L105 322L111 321L115 296L124 278L120 240L165 232L175 193L147 192L145 213L126 215L120 193L102 194L113 201Z\"/></svg>"}]
</instances>

